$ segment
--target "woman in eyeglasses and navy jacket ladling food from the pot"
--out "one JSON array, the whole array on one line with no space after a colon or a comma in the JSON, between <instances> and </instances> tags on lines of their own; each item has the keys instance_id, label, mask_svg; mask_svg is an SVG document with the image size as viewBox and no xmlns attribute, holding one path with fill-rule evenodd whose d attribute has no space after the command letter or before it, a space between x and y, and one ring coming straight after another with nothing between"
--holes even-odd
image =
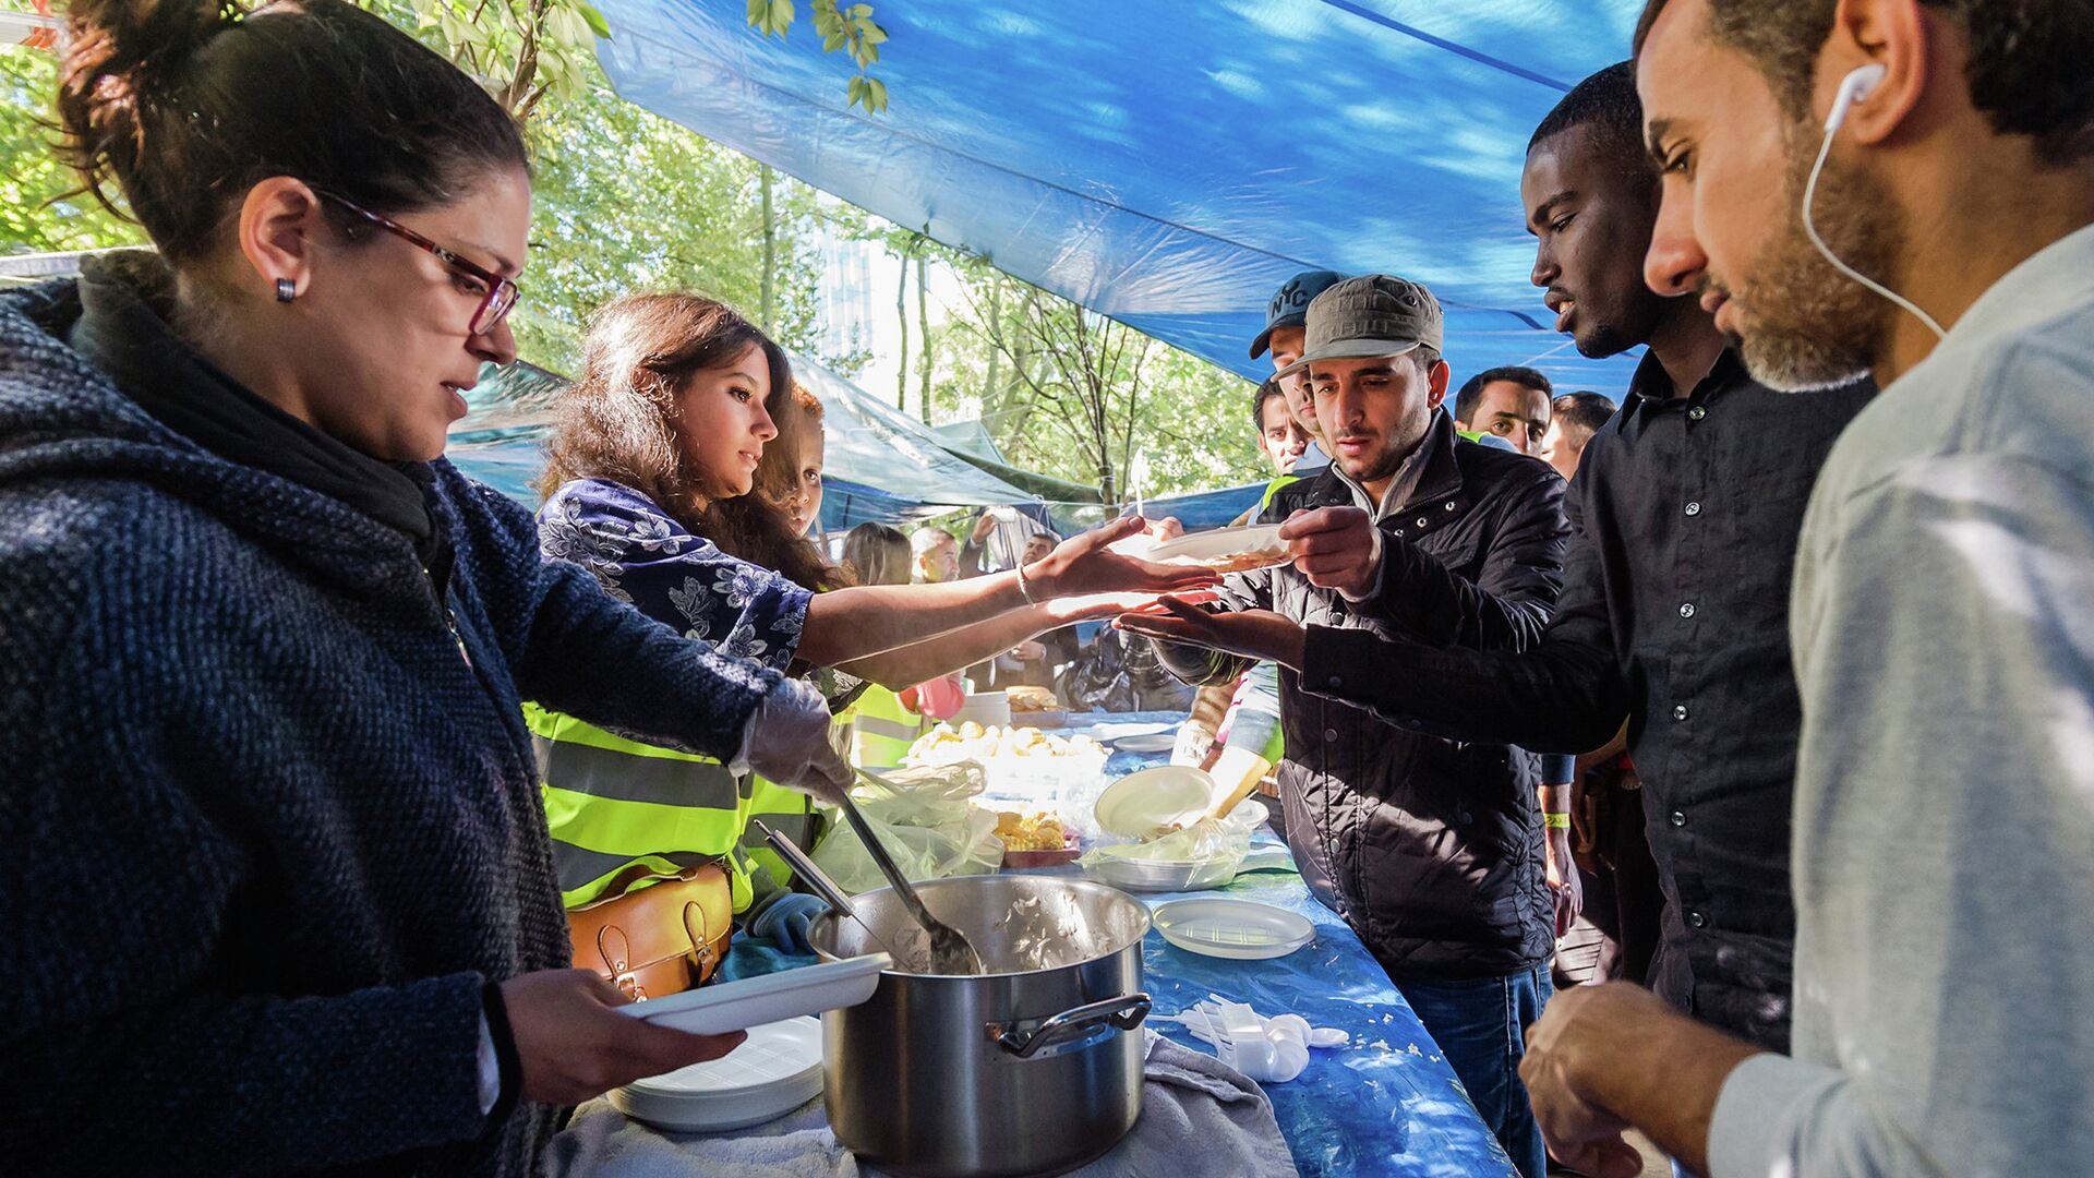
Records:
<instances>
[{"instance_id":1,"label":"woman in eyeglasses and navy jacket ladling food from the pot","mask_svg":"<svg viewBox=\"0 0 2094 1178\"><path fill-rule=\"evenodd\" d=\"M73 0L57 113L157 252L0 296L4 1168L536 1174L739 1035L563 968L519 698L833 790L827 708L442 461L530 226L465 73L341 0Z\"/></svg>"}]
</instances>

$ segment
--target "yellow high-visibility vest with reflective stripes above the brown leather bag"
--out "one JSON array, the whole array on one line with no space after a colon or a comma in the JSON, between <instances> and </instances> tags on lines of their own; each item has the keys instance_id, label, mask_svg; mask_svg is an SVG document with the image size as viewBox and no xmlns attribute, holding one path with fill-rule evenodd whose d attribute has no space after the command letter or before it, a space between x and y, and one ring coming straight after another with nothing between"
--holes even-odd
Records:
<instances>
[{"instance_id":1,"label":"yellow high-visibility vest with reflective stripes above the brown leather bag","mask_svg":"<svg viewBox=\"0 0 2094 1178\"><path fill-rule=\"evenodd\" d=\"M727 765L536 704L524 704L524 721L538 748L553 866L567 908L599 899L626 864L674 872L706 859L727 864L735 912L750 906L752 864L739 847L748 797Z\"/></svg>"}]
</instances>

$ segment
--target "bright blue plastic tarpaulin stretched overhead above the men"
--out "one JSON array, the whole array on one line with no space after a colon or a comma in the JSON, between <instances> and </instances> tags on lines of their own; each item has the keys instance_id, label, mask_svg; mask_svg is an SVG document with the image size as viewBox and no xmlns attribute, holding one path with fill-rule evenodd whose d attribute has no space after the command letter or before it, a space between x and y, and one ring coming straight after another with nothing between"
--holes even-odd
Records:
<instances>
[{"instance_id":1,"label":"bright blue plastic tarpaulin stretched overhead above the men","mask_svg":"<svg viewBox=\"0 0 2094 1178\"><path fill-rule=\"evenodd\" d=\"M1455 379L1533 363L1619 396L1527 275L1527 138L1629 54L1642 0L888 0L882 115L798 23L601 0L618 92L699 134L1248 377L1305 268L1393 270L1447 306Z\"/></svg>"}]
</instances>

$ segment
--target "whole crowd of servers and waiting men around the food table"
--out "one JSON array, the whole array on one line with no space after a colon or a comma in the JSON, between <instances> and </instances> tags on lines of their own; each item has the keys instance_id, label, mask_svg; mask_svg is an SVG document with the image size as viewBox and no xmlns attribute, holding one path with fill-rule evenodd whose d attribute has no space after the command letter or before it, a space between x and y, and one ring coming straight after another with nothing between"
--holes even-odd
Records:
<instances>
[{"instance_id":1,"label":"whole crowd of servers and waiting men around the food table","mask_svg":"<svg viewBox=\"0 0 2094 1178\"><path fill-rule=\"evenodd\" d=\"M1527 1178L1638 1174L1629 1128L2075 1174L2094 10L1650 0L1625 48L1520 174L1558 329L1644 350L1619 407L1296 275L1248 407L1288 562L1217 579L1139 518L829 560L821 402L695 293L595 317L532 516L442 461L515 358L509 115L346 0L73 0L61 151L153 249L0 298L0 1157L536 1174L741 1042L618 1015L567 910L718 868L756 918L840 721L892 763L1110 618ZM1614 981L1558 989L1579 912Z\"/></svg>"}]
</instances>

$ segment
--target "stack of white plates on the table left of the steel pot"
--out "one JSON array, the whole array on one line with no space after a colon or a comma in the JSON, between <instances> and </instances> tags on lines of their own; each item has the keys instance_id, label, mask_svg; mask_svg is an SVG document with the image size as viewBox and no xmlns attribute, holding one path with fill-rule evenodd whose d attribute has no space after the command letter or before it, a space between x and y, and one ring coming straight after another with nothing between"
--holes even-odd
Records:
<instances>
[{"instance_id":1,"label":"stack of white plates on the table left of the steel pot","mask_svg":"<svg viewBox=\"0 0 2094 1178\"><path fill-rule=\"evenodd\" d=\"M760 1126L821 1092L821 1019L750 1027L729 1054L609 1092L620 1113L674 1132Z\"/></svg>"}]
</instances>

